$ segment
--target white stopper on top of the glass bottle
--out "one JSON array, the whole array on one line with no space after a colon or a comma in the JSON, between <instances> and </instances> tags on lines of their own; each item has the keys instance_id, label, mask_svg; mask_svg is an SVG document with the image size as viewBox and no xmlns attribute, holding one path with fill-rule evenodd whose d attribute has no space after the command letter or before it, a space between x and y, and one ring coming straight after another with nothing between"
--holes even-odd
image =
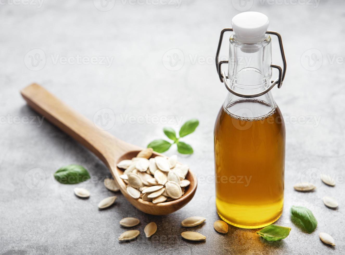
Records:
<instances>
[{"instance_id":1,"label":"white stopper on top of the glass bottle","mask_svg":"<svg viewBox=\"0 0 345 255\"><path fill-rule=\"evenodd\" d=\"M231 24L236 41L248 44L262 42L266 39L268 17L260 12L247 11L237 14Z\"/></svg>"}]
</instances>

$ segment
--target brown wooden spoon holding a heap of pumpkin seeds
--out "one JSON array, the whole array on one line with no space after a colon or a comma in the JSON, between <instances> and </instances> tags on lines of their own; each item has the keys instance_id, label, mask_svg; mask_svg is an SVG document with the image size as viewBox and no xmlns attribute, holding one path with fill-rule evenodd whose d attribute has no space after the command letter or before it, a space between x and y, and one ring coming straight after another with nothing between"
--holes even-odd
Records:
<instances>
[{"instance_id":1,"label":"brown wooden spoon holding a heap of pumpkin seeds","mask_svg":"<svg viewBox=\"0 0 345 255\"><path fill-rule=\"evenodd\" d=\"M89 119L78 114L38 84L31 84L22 89L21 95L30 107L102 160L120 187L121 193L142 212L153 215L166 215L185 206L193 198L197 187L197 179L190 170L186 176L186 179L190 181L190 185L186 188L185 194L177 200L153 204L141 198L132 198L127 194L126 185L119 177L122 170L116 165L121 160L135 157L142 148L128 144L101 130ZM152 157L159 155L161 154L154 153Z\"/></svg>"}]
</instances>

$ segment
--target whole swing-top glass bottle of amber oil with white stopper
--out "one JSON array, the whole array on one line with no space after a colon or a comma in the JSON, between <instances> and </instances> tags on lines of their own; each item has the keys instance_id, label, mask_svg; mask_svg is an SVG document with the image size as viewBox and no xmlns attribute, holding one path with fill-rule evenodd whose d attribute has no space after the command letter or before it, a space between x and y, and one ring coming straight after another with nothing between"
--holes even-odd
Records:
<instances>
[{"instance_id":1,"label":"whole swing-top glass bottle of amber oil with white stopper","mask_svg":"<svg viewBox=\"0 0 345 255\"><path fill-rule=\"evenodd\" d=\"M227 223L259 228L275 222L283 210L285 124L270 89L282 85L286 62L280 35L266 31L268 18L243 12L224 29L219 40L216 66L229 93L214 128L216 206ZM228 76L218 63L225 31L230 37ZM277 35L284 71L272 65L271 38ZM279 77L271 82L272 67ZM227 81L227 78L229 81Z\"/></svg>"}]
</instances>

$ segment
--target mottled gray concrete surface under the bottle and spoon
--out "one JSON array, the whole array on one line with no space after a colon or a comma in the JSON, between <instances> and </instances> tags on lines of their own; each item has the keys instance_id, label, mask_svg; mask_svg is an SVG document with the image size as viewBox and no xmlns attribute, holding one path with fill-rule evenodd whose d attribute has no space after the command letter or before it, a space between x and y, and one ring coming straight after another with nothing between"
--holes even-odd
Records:
<instances>
[{"instance_id":1,"label":"mottled gray concrete surface under the bottle and spoon","mask_svg":"<svg viewBox=\"0 0 345 255\"><path fill-rule=\"evenodd\" d=\"M334 57L345 57L345 3L256 1L249 9L267 14L269 29L282 34L288 63L283 87L273 90L287 130L284 213L276 224L292 231L282 241L266 242L255 230L229 227L226 235L216 233L214 183L202 179L214 174L213 126L227 92L218 80L214 55L220 30L239 13L231 4L236 1L141 2L117 0L115 6L110 2L104 7L112 7L108 11L97 0L46 0L41 6L39 1L1 2L0 253L344 253L345 72L344 62ZM276 40L273 43L273 62L280 64ZM71 62L77 55L85 57L82 64ZM102 56L113 57L111 65L105 65ZM179 56L177 65L174 56ZM73 58L65 63L63 57ZM87 62L91 57L96 57L93 64ZM198 175L194 199L178 212L158 217L141 213L116 194L117 203L99 211L98 202L114 195L101 181L110 173L60 130L31 117L37 114L19 94L31 82L96 122L99 115L110 114L108 131L143 147L164 137L162 127L178 126L176 118L166 124L164 118L156 123L145 116L198 118L200 126L184 139L195 153L180 157ZM31 118L33 123L27 123ZM175 153L174 147L167 155ZM57 183L52 174L70 163L85 166L94 179L78 185ZM320 183L320 172L335 176L336 186ZM313 173L317 174L315 192L293 190L296 182L314 177ZM78 199L74 187L89 189L91 197ZM324 195L337 198L339 208L326 208ZM318 220L314 233L303 233L290 221L292 205L312 210ZM179 223L191 215L207 218L193 228L207 236L206 242L181 239L184 228ZM117 238L125 229L119 220L127 216L141 220L137 229L142 234L135 241L120 243ZM151 221L158 231L146 239L143 230ZM336 246L324 245L319 232L331 234Z\"/></svg>"}]
</instances>

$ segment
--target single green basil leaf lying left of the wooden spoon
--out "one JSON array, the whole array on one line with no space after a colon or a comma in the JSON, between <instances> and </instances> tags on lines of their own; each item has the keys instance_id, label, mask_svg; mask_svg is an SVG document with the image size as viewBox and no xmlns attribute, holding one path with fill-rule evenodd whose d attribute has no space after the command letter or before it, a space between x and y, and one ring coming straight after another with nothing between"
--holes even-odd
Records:
<instances>
[{"instance_id":1,"label":"single green basil leaf lying left of the wooden spoon","mask_svg":"<svg viewBox=\"0 0 345 255\"><path fill-rule=\"evenodd\" d=\"M83 166L72 164L58 169L54 177L62 184L76 184L90 179L90 174Z\"/></svg>"}]
</instances>

